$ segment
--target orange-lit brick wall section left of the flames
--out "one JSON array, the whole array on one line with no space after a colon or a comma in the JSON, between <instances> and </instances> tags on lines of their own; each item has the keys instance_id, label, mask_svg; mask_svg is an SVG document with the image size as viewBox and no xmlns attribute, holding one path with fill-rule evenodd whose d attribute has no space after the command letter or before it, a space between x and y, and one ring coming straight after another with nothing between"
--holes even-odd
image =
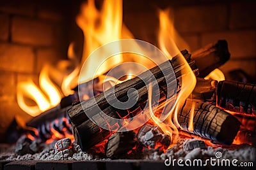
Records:
<instances>
[{"instance_id":1,"label":"orange-lit brick wall section left of the flames","mask_svg":"<svg viewBox=\"0 0 256 170\"><path fill-rule=\"evenodd\" d=\"M0 136L15 115L29 118L17 105L17 83L37 82L46 62L66 58L66 9L56 1L1 1Z\"/></svg>"}]
</instances>

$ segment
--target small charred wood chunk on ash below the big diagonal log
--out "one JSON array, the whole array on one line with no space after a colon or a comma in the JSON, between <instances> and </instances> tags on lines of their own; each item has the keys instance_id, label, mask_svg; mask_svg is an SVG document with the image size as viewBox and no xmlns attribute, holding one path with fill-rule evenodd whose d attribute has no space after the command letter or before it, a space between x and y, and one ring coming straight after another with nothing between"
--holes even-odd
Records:
<instances>
[{"instance_id":1,"label":"small charred wood chunk on ash below the big diagonal log","mask_svg":"<svg viewBox=\"0 0 256 170\"><path fill-rule=\"evenodd\" d=\"M105 153L107 157L121 158L136 146L136 134L133 131L116 132L109 137Z\"/></svg>"}]
</instances>

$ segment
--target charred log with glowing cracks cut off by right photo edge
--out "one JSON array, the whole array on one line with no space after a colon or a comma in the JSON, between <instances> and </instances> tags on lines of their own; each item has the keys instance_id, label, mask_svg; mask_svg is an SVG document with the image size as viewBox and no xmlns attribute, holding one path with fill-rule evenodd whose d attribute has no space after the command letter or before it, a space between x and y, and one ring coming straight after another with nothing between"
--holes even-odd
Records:
<instances>
[{"instance_id":1,"label":"charred log with glowing cracks cut off by right photo edge","mask_svg":"<svg viewBox=\"0 0 256 170\"><path fill-rule=\"evenodd\" d=\"M256 114L255 85L236 81L220 81L217 96L218 106L225 110Z\"/></svg>"}]
</instances>

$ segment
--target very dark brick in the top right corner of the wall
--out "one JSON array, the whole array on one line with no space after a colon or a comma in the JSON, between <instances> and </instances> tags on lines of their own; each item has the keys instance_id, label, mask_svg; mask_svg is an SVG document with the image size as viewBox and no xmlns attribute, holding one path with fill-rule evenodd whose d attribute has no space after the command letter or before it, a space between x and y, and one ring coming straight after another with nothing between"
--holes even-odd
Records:
<instances>
[{"instance_id":1,"label":"very dark brick in the top right corner of the wall","mask_svg":"<svg viewBox=\"0 0 256 170\"><path fill-rule=\"evenodd\" d=\"M253 1L245 1L231 4L230 10L230 28L252 28L256 27L255 17L256 3Z\"/></svg>"}]
</instances>

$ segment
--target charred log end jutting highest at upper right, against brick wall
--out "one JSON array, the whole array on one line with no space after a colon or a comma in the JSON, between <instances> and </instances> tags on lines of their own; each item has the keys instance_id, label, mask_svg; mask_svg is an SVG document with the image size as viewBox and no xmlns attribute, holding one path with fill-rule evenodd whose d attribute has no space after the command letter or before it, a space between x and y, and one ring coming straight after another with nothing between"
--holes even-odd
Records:
<instances>
[{"instance_id":1,"label":"charred log end jutting highest at upper right, against brick wall","mask_svg":"<svg viewBox=\"0 0 256 170\"><path fill-rule=\"evenodd\" d=\"M199 77L204 78L214 69L220 67L230 58L226 40L218 40L192 53L192 59L200 71Z\"/></svg>"}]
</instances>

